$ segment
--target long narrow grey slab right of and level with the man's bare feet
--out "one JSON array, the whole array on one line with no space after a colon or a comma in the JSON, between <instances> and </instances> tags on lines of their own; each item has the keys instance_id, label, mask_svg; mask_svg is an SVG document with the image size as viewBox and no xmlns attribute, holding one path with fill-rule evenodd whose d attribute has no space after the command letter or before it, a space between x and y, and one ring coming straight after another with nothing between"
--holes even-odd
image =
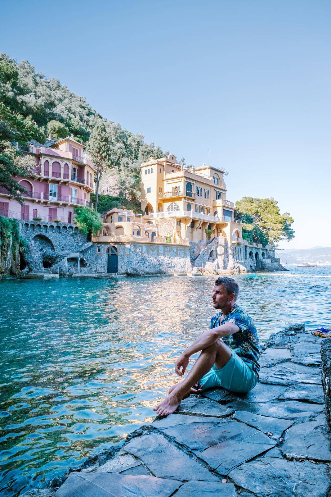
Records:
<instances>
[{"instance_id":1,"label":"long narrow grey slab right of and level with the man's bare feet","mask_svg":"<svg viewBox=\"0 0 331 497\"><path fill-rule=\"evenodd\" d=\"M283 401L274 404L269 403L249 403L236 401L230 404L236 411L248 411L252 414L262 416L280 417L282 419L298 419L319 414L323 411L320 404L306 404L305 402Z\"/></svg>"}]
</instances>

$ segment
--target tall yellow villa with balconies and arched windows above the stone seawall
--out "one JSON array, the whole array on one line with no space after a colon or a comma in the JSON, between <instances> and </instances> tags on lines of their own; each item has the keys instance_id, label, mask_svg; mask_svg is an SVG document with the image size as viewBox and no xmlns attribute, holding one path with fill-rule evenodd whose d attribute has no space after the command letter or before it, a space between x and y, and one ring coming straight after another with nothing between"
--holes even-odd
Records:
<instances>
[{"instance_id":1,"label":"tall yellow villa with balconies and arched windows above the stone seawall","mask_svg":"<svg viewBox=\"0 0 331 497\"><path fill-rule=\"evenodd\" d=\"M242 243L241 222L234 219L234 204L226 200L225 171L205 166L187 168L176 156L150 158L141 164L141 209L158 224L160 236L174 242L206 241L224 236Z\"/></svg>"}]
</instances>

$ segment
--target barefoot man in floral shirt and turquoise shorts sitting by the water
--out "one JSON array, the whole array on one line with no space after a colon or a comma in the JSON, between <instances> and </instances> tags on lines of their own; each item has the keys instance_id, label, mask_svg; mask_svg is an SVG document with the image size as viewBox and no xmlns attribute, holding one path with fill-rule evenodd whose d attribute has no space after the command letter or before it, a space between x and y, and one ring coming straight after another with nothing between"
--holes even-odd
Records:
<instances>
[{"instance_id":1,"label":"barefoot man in floral shirt and turquoise shorts sitting by the water","mask_svg":"<svg viewBox=\"0 0 331 497\"><path fill-rule=\"evenodd\" d=\"M260 343L253 319L236 304L238 283L217 278L213 288L214 309L210 329L202 333L176 361L175 372L183 376L191 355L201 350L187 377L173 385L168 397L153 408L160 416L176 411L181 401L207 388L226 388L247 393L259 381Z\"/></svg>"}]
</instances>

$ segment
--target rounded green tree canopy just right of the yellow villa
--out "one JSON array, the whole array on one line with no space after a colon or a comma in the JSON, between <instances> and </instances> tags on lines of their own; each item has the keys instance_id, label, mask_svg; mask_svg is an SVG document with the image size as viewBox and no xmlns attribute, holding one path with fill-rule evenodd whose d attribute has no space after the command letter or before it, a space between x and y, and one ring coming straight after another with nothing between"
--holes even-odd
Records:
<instances>
[{"instance_id":1,"label":"rounded green tree canopy just right of the yellow villa","mask_svg":"<svg viewBox=\"0 0 331 497\"><path fill-rule=\"evenodd\" d=\"M243 197L236 202L235 217L243 222L243 238L250 243L274 245L294 238L293 218L280 214L273 198Z\"/></svg>"}]
</instances>

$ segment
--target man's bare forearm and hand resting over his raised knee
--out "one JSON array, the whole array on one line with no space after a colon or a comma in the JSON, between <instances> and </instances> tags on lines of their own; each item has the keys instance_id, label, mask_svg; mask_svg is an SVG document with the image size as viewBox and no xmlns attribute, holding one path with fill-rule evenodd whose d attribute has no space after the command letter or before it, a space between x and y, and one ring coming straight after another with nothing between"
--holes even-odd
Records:
<instances>
[{"instance_id":1,"label":"man's bare forearm and hand resting over his raised knee","mask_svg":"<svg viewBox=\"0 0 331 497\"><path fill-rule=\"evenodd\" d=\"M179 376L183 376L185 370L189 364L189 360L191 355L203 350L209 345L215 343L218 338L222 338L223 336L229 336L233 333L239 331L239 326L234 323L225 323L224 325L220 325L217 328L212 328L211 330L204 331L202 335L197 338L192 345L190 345L187 349L184 350L179 359L177 359L175 363L175 372ZM182 368L182 371L180 370Z\"/></svg>"}]
</instances>

